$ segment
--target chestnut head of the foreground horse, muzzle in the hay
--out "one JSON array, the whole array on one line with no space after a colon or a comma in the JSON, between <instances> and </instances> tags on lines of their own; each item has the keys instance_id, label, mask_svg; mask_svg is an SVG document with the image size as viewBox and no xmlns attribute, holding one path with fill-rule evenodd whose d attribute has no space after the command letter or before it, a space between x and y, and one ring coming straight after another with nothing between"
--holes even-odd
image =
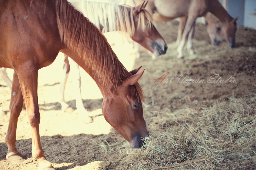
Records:
<instances>
[{"instance_id":1,"label":"chestnut head of the foreground horse, muzzle in the hay","mask_svg":"<svg viewBox=\"0 0 256 170\"><path fill-rule=\"evenodd\" d=\"M115 90L110 89L102 102L105 120L129 142L131 148L140 148L143 138L149 133L143 115L143 92L137 83L144 72L143 69L136 74L141 67L130 71L132 75L119 83Z\"/></svg>"}]
</instances>

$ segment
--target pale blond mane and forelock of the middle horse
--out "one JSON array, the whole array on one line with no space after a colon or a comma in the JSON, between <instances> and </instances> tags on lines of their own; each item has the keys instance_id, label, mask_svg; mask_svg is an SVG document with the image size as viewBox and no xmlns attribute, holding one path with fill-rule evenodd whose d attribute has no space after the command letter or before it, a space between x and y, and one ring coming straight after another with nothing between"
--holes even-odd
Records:
<instances>
[{"instance_id":1,"label":"pale blond mane and forelock of the middle horse","mask_svg":"<svg viewBox=\"0 0 256 170\"><path fill-rule=\"evenodd\" d=\"M96 27L103 26L102 32L124 31L130 37L133 36L135 30L133 9L135 7L91 1L81 1L79 5L83 6L79 7L79 10ZM152 15L142 8L138 14L137 28L143 31L150 30L152 23L154 23Z\"/></svg>"}]
</instances>

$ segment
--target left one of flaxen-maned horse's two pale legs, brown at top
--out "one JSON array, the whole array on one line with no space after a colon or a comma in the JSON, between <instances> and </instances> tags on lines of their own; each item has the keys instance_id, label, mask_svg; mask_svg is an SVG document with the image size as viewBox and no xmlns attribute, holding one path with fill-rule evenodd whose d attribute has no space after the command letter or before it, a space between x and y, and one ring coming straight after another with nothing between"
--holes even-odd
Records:
<instances>
[{"instance_id":1,"label":"left one of flaxen-maned horse's two pale legs, brown at top","mask_svg":"<svg viewBox=\"0 0 256 170\"><path fill-rule=\"evenodd\" d=\"M74 110L65 102L64 98L64 91L66 87L66 82L69 75L69 62L68 62L68 56L64 55L64 64L63 64L63 70L61 73L61 80L60 80L60 93L59 93L59 101L61 104L61 110L65 112L73 112Z\"/></svg>"}]
</instances>

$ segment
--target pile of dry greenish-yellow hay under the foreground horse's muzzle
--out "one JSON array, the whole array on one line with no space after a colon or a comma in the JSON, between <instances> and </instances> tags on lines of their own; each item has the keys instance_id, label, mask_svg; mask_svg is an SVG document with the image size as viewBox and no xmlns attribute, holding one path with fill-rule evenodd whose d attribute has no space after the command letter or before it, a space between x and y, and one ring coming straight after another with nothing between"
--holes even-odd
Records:
<instances>
[{"instance_id":1,"label":"pile of dry greenish-yellow hay under the foreground horse's muzzle","mask_svg":"<svg viewBox=\"0 0 256 170\"><path fill-rule=\"evenodd\" d=\"M165 109L151 118L151 136L140 149L119 146L118 161L131 169L255 169L256 94L216 102L200 111ZM116 154L118 155L118 154Z\"/></svg>"}]
</instances>

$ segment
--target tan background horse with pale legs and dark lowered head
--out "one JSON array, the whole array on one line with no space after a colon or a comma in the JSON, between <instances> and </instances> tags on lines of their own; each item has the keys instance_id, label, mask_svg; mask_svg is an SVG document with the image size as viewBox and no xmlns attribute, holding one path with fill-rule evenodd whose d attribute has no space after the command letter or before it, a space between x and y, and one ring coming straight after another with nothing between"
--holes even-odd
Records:
<instances>
[{"instance_id":1,"label":"tan background horse with pale legs and dark lowered head","mask_svg":"<svg viewBox=\"0 0 256 170\"><path fill-rule=\"evenodd\" d=\"M142 0L136 0L140 3ZM184 48L188 34L193 34L194 25L197 17L202 17L211 12L222 23L223 34L230 47L236 44L235 34L237 30L236 18L232 18L223 8L218 0L149 0L146 10L157 11L160 15L168 18L187 17L187 21L182 33L182 38L178 45L178 58L183 57ZM192 44L189 44L191 46ZM190 47L188 47L190 49Z\"/></svg>"}]
</instances>

